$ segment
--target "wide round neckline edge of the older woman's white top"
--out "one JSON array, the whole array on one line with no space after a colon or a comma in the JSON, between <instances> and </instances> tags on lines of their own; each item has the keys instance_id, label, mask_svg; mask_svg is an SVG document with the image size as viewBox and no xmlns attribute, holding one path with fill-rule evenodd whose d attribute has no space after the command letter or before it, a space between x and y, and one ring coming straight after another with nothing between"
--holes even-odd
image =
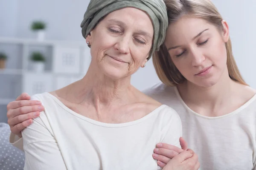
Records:
<instances>
[{"instance_id":1,"label":"wide round neckline edge of the older woman's white top","mask_svg":"<svg viewBox=\"0 0 256 170\"><path fill-rule=\"evenodd\" d=\"M147 115L143 116L140 119L131 121L131 122L125 122L125 123L105 123L105 122L99 122L96 121L94 119L90 119L86 116L83 116L79 113L76 113L75 111L71 110L70 108L68 108L66 105L64 105L56 96L45 92L49 97L51 97L52 99L55 100L55 102L58 103L58 105L61 106L61 108L63 108L64 110L66 110L67 112L73 114L74 116L78 117L79 119L83 119L87 122L90 122L94 125L98 125L98 126L103 126L103 127L125 127L125 126L131 126L131 125L135 125L138 124L140 122L143 122L146 119L149 119L151 116L155 115L157 113L157 111L160 111L162 108L167 107L167 105L160 105L159 107L155 108L153 111L151 111L150 113L148 113Z\"/></svg>"}]
</instances>

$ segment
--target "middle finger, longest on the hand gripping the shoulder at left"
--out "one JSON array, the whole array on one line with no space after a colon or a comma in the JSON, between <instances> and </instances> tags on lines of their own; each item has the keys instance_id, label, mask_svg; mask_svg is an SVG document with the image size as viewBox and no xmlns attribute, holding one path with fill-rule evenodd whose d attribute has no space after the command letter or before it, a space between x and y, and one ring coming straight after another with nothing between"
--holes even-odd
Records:
<instances>
[{"instance_id":1,"label":"middle finger, longest on the hand gripping the shoulder at left","mask_svg":"<svg viewBox=\"0 0 256 170\"><path fill-rule=\"evenodd\" d=\"M23 106L16 109L11 109L7 112L8 119L14 118L15 116L31 113L31 112L37 112L37 111L44 111L44 106L42 105L32 105L32 106Z\"/></svg>"}]
</instances>

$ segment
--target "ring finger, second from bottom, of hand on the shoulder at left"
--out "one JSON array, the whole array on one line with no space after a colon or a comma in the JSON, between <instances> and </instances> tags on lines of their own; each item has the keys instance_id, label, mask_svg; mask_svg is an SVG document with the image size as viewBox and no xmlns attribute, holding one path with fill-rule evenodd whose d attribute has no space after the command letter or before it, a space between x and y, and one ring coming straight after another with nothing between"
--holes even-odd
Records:
<instances>
[{"instance_id":1,"label":"ring finger, second from bottom, of hand on the shoulder at left","mask_svg":"<svg viewBox=\"0 0 256 170\"><path fill-rule=\"evenodd\" d=\"M18 115L18 116L8 119L8 124L10 127L13 127L21 122L28 120L28 119L34 119L34 118L38 117L39 115L40 115L39 111L30 112L27 114L21 114L21 115Z\"/></svg>"}]
</instances>

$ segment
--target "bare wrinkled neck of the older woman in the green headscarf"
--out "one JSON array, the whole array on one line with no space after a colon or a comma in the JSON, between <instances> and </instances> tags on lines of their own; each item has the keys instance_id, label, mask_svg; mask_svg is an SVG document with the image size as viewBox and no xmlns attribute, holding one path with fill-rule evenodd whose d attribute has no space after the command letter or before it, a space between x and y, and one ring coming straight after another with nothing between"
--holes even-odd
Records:
<instances>
[{"instance_id":1,"label":"bare wrinkled neck of the older woman in the green headscarf","mask_svg":"<svg viewBox=\"0 0 256 170\"><path fill-rule=\"evenodd\" d=\"M95 108L104 108L113 104L128 104L133 97L131 92L135 90L130 82L131 77L115 80L89 67L87 74L73 88L79 103L86 102Z\"/></svg>"}]
</instances>

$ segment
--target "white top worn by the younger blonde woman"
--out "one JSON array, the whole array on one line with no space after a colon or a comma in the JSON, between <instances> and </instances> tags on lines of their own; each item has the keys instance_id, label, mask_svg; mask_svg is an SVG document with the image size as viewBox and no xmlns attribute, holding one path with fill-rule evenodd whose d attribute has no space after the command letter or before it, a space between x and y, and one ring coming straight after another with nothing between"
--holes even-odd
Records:
<instances>
[{"instance_id":1,"label":"white top worn by the younger blonde woman","mask_svg":"<svg viewBox=\"0 0 256 170\"><path fill-rule=\"evenodd\" d=\"M201 170L256 170L256 95L232 113L207 117L192 111L175 87L160 83L144 93L177 111Z\"/></svg>"}]
</instances>

